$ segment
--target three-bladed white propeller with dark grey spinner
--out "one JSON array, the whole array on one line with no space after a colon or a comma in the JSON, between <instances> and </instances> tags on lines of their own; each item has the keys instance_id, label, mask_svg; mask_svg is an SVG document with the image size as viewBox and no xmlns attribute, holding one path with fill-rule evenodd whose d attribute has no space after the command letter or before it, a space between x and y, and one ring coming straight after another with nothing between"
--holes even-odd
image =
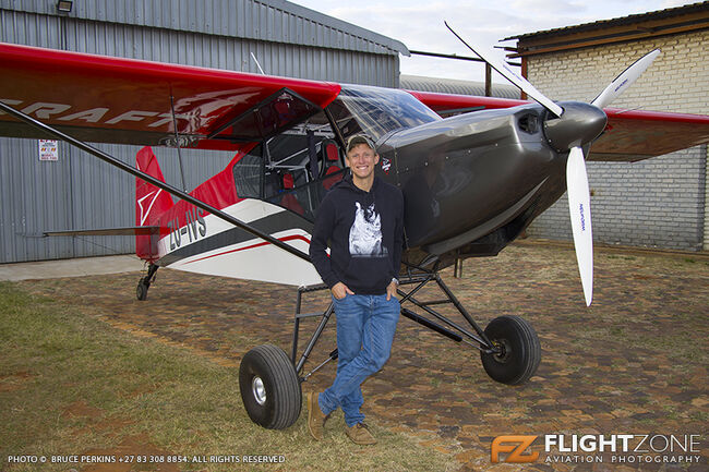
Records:
<instances>
[{"instance_id":1,"label":"three-bladed white propeller with dark grey spinner","mask_svg":"<svg viewBox=\"0 0 709 472\"><path fill-rule=\"evenodd\" d=\"M534 99L539 105L549 110L556 117L555 121L563 124L556 124L556 140L550 140L553 143L563 143L557 147L558 152L568 149L568 160L566 161L566 191L568 195L568 211L572 219L572 230L574 232L574 247L576 250L576 261L578 262L578 271L581 277L584 287L584 298L586 305L590 306L593 301L593 235L591 231L591 197L588 186L588 176L586 173L586 162L581 145L590 142L598 136L603 128L598 129L598 113L603 112L603 107L611 104L617 96L625 92L633 83L650 66L652 61L660 55L656 49L642 58L638 59L627 68L621 75L611 82L601 94L593 99L591 106L573 104L568 112L558 105L549 99L544 94L539 92L529 81L517 74L505 62L498 61L488 52L480 52L481 48L472 48L466 43L447 22L446 27L468 47L472 52L478 55L482 60L488 62L491 68L497 71L502 76L522 89L529 97ZM584 111L584 109L586 109ZM596 117L593 117L596 114ZM580 119L579 119L580 117ZM566 120L565 120L566 119ZM565 122L566 121L566 122ZM586 124L584 124L586 121ZM548 122L550 123L550 122ZM605 125L605 120L602 122ZM576 136L569 137L576 131ZM593 131L597 129L598 131ZM569 133L569 131L572 133ZM592 134L591 137L585 134ZM562 147L562 148L558 148Z\"/></svg>"}]
</instances>

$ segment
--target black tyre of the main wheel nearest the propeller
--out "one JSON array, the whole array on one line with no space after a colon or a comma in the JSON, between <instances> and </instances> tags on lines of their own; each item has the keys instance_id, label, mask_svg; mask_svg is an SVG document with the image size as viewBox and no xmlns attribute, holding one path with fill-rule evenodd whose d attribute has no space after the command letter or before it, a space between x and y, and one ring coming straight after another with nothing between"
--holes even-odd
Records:
<instances>
[{"instance_id":1,"label":"black tyre of the main wheel nearest the propeller","mask_svg":"<svg viewBox=\"0 0 709 472\"><path fill-rule=\"evenodd\" d=\"M497 354L480 353L482 366L493 380L519 385L534 375L542 354L529 323L519 316L500 316L490 322L485 335L502 350Z\"/></svg>"}]
</instances>

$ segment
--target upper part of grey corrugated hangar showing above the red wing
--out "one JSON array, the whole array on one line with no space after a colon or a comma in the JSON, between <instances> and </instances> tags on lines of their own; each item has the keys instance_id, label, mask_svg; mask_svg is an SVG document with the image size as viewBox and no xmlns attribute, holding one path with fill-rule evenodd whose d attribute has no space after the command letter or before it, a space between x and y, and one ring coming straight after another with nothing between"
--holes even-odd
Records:
<instances>
[{"instance_id":1,"label":"upper part of grey corrugated hangar showing above the red wing","mask_svg":"<svg viewBox=\"0 0 709 472\"><path fill-rule=\"evenodd\" d=\"M273 4L269 4L273 3ZM299 78L398 86L394 39L286 1L0 0L0 40Z\"/></svg>"}]
</instances>

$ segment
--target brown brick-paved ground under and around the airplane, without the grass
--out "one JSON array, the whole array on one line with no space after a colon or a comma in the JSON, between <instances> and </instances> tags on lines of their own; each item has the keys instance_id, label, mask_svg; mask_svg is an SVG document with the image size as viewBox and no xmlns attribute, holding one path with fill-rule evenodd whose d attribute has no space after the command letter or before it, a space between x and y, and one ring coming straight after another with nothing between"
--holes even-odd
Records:
<instances>
[{"instance_id":1,"label":"brown brick-paved ground under and around the airplane, without the grass","mask_svg":"<svg viewBox=\"0 0 709 472\"><path fill-rule=\"evenodd\" d=\"M497 384L485 374L476 349L401 318L389 362L363 387L368 421L455 456L464 471L709 470L706 254L599 250L588 308L569 247L515 244L497 257L466 261L462 278L454 278L450 269L442 275L481 326L505 314L532 324L542 347L537 374L522 386ZM148 300L139 302L139 278L130 273L21 286L224 365L237 366L259 343L290 352L291 287L161 269ZM425 289L419 298L441 295ZM322 311L325 303L325 293L309 294L303 312ZM302 323L300 351L315 324L315 318ZM334 331L331 324L307 371L335 348ZM303 391L323 389L333 377L328 364L303 384ZM540 436L531 447L539 459L524 465L491 463L492 440L515 434ZM669 436L698 435L698 445L695 452L682 455L594 453L590 456L603 462L589 463L589 455L545 452L542 437L621 434L636 435L634 440L658 436L656 449ZM611 462L613 456L622 462ZM700 459L648 462L647 456Z\"/></svg>"}]
</instances>

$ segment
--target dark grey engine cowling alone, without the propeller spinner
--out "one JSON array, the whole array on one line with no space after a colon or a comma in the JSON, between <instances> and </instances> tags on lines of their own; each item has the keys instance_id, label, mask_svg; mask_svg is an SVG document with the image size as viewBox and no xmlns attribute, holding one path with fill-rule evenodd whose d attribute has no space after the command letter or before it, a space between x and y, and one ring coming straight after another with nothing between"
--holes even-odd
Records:
<instances>
[{"instance_id":1,"label":"dark grey engine cowling alone, without the propeller spinner","mask_svg":"<svg viewBox=\"0 0 709 472\"><path fill-rule=\"evenodd\" d=\"M394 170L381 177L404 192L409 247L470 243L525 213L543 182L546 193L563 193L563 181L550 176L563 176L565 159L531 125L541 111L525 105L450 117L380 146Z\"/></svg>"}]
</instances>

